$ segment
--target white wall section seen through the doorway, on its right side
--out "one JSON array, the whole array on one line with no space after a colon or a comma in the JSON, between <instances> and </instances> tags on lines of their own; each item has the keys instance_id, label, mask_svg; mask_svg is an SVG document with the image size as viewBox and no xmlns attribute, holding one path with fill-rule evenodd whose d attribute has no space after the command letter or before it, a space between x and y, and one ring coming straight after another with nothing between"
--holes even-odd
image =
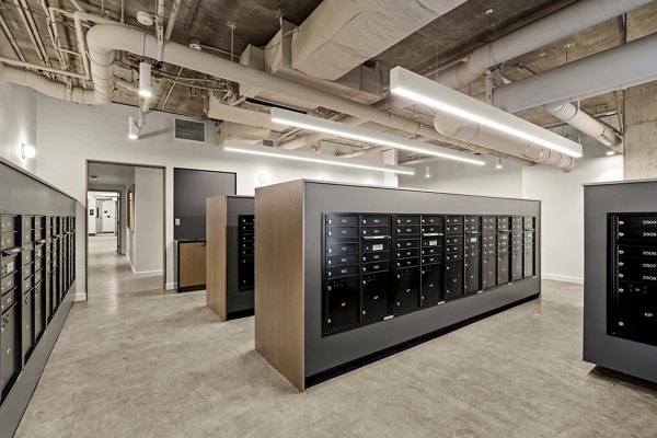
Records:
<instances>
[{"instance_id":1,"label":"white wall section seen through the doorway, on its right side","mask_svg":"<svg viewBox=\"0 0 657 438\"><path fill-rule=\"evenodd\" d=\"M137 274L162 274L164 260L162 235L164 231L163 177L160 169L135 169L135 233Z\"/></svg>"}]
</instances>

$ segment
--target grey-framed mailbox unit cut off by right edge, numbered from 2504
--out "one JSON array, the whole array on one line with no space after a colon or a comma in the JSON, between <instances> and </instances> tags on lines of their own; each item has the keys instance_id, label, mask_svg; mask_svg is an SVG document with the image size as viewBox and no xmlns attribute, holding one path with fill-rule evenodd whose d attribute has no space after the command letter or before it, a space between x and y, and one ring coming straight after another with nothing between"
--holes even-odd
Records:
<instances>
[{"instance_id":1,"label":"grey-framed mailbox unit cut off by right edge, numbered from 2504","mask_svg":"<svg viewBox=\"0 0 657 438\"><path fill-rule=\"evenodd\" d=\"M584 360L657 382L657 181L584 194Z\"/></svg>"}]
</instances>

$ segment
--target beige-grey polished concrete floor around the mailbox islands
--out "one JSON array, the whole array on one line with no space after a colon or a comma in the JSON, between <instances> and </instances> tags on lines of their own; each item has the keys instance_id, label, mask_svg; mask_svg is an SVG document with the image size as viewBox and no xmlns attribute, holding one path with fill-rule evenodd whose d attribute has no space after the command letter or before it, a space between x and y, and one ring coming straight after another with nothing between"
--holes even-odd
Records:
<instances>
[{"instance_id":1,"label":"beige-grey polished concrete floor around the mailbox islands","mask_svg":"<svg viewBox=\"0 0 657 438\"><path fill-rule=\"evenodd\" d=\"M581 361L579 285L543 281L539 300L300 394L254 351L253 318L219 323L205 292L91 250L90 299L19 437L657 437L657 392Z\"/></svg>"}]
</instances>

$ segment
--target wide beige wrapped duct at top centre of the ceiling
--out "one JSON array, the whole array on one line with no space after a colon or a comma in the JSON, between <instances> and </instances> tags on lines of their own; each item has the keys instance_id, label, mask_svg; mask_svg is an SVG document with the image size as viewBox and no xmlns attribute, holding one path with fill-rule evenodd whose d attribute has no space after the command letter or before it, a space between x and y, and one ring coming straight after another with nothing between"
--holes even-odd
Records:
<instances>
[{"instance_id":1,"label":"wide beige wrapped duct at top centre of the ceiling","mask_svg":"<svg viewBox=\"0 0 657 438\"><path fill-rule=\"evenodd\" d=\"M292 68L335 81L465 0L324 0L292 36Z\"/></svg>"}]
</instances>

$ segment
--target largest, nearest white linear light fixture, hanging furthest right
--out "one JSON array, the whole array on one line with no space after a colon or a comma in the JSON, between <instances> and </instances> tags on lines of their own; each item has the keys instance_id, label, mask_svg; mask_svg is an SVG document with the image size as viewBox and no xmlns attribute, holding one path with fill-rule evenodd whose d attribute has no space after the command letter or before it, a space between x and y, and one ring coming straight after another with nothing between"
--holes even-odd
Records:
<instances>
[{"instance_id":1,"label":"largest, nearest white linear light fixture, hanging furthest right","mask_svg":"<svg viewBox=\"0 0 657 438\"><path fill-rule=\"evenodd\" d=\"M581 145L575 141L401 67L390 70L390 91L531 143L574 158L581 157Z\"/></svg>"}]
</instances>

